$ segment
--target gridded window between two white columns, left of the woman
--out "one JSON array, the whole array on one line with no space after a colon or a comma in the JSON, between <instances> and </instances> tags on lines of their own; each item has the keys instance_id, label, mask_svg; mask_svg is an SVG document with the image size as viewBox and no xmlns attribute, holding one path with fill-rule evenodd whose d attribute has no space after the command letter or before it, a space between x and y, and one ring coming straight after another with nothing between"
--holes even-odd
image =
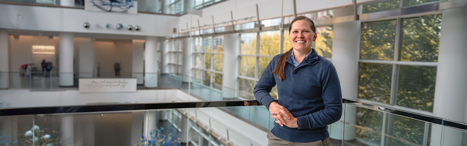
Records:
<instances>
[{"instance_id":1,"label":"gridded window between two white columns, left of the woman","mask_svg":"<svg viewBox=\"0 0 467 146\"><path fill-rule=\"evenodd\" d=\"M222 90L224 36L195 37L193 40L195 82Z\"/></svg>"}]
</instances>

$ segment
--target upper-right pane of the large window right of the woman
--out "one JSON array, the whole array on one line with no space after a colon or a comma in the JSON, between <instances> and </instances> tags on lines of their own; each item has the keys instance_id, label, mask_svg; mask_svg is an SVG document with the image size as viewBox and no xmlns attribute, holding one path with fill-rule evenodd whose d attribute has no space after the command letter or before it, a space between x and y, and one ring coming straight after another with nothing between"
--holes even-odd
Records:
<instances>
[{"instance_id":1,"label":"upper-right pane of the large window right of the woman","mask_svg":"<svg viewBox=\"0 0 467 146\"><path fill-rule=\"evenodd\" d=\"M403 19L402 61L438 62L441 14Z\"/></svg>"}]
</instances>

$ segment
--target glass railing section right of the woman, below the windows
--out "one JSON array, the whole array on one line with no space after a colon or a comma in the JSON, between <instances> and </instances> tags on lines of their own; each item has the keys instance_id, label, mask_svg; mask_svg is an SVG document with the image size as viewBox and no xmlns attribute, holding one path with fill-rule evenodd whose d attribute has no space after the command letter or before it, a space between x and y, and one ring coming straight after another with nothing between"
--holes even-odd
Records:
<instances>
[{"instance_id":1,"label":"glass railing section right of the woman, below the windows","mask_svg":"<svg viewBox=\"0 0 467 146\"><path fill-rule=\"evenodd\" d=\"M467 146L467 124L354 100L344 103L345 116L330 125L341 130L331 138L344 139L344 145Z\"/></svg>"}]
</instances>

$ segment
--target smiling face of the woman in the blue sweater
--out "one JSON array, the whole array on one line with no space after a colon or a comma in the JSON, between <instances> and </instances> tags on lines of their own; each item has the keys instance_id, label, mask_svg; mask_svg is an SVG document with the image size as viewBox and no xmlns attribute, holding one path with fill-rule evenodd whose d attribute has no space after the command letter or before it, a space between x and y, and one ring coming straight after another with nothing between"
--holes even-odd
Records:
<instances>
[{"instance_id":1,"label":"smiling face of the woman in the blue sweater","mask_svg":"<svg viewBox=\"0 0 467 146\"><path fill-rule=\"evenodd\" d=\"M311 30L310 22L298 20L292 24L289 33L289 41L294 50L308 50L316 41L316 33Z\"/></svg>"}]
</instances>

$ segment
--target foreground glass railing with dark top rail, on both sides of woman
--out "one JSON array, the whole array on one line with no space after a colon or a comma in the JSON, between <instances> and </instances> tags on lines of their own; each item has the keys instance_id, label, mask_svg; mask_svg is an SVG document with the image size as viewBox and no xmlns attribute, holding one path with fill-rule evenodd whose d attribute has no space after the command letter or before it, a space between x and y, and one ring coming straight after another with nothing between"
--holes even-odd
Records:
<instances>
[{"instance_id":1,"label":"foreground glass railing with dark top rail, on both sides of woman","mask_svg":"<svg viewBox=\"0 0 467 146\"><path fill-rule=\"evenodd\" d=\"M262 107L247 107L243 102L0 109L0 143L6 146L180 146L189 142L190 146L265 146L268 129L257 128L238 115L222 110ZM345 116L329 125L331 146L465 146L467 124L348 99L343 102ZM251 114L269 116L269 113Z\"/></svg>"}]
</instances>

